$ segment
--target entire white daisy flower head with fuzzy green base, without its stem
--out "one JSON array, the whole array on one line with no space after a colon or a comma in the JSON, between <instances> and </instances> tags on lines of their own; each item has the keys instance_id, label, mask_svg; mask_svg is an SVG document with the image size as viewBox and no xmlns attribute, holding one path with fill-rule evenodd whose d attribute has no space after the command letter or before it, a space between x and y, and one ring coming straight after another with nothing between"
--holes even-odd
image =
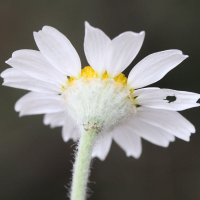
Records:
<instances>
[{"instance_id":1,"label":"entire white daisy flower head with fuzzy green base, without its stem","mask_svg":"<svg viewBox=\"0 0 200 200\"><path fill-rule=\"evenodd\" d=\"M151 54L140 61L128 79L121 73L139 52L144 32L125 32L111 40L85 24L84 50L91 67L81 70L70 41L44 26L34 33L40 51L19 50L6 61L3 85L30 90L15 110L23 115L45 114L44 124L62 126L64 141L80 137L80 129L99 129L92 156L104 160L112 139L138 158L141 138L167 147L175 136L189 141L194 126L176 111L199 106L199 94L143 88L157 82L187 56L179 50ZM174 101L167 100L174 96Z\"/></svg>"}]
</instances>

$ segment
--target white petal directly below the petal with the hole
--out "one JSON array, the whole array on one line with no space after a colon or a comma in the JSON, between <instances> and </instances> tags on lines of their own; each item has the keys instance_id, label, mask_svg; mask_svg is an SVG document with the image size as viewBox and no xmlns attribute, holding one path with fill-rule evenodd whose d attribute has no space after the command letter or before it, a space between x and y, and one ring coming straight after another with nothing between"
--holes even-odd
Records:
<instances>
[{"instance_id":1,"label":"white petal directly below the petal with the hole","mask_svg":"<svg viewBox=\"0 0 200 200\"><path fill-rule=\"evenodd\" d=\"M139 107L137 117L185 141L189 141L191 133L195 132L194 126L175 111Z\"/></svg>"}]
</instances>

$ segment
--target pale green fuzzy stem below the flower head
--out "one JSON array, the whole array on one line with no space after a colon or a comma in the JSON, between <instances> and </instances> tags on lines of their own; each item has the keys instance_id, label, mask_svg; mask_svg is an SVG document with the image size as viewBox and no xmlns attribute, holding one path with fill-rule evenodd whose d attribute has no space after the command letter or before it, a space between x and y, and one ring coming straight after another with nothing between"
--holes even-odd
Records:
<instances>
[{"instance_id":1,"label":"pale green fuzzy stem below the flower head","mask_svg":"<svg viewBox=\"0 0 200 200\"><path fill-rule=\"evenodd\" d=\"M91 154L97 137L96 129L83 130L73 169L71 200L85 200L86 198Z\"/></svg>"}]
</instances>

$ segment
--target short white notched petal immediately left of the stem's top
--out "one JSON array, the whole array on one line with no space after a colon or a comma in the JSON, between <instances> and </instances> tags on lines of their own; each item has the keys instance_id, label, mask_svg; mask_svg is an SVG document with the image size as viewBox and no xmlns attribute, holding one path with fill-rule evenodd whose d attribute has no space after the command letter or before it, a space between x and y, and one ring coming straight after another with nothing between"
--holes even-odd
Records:
<instances>
[{"instance_id":1,"label":"short white notched petal immediately left of the stem's top","mask_svg":"<svg viewBox=\"0 0 200 200\"><path fill-rule=\"evenodd\" d=\"M67 142L69 139L72 139L73 141L77 141L80 137L80 133L78 129L76 128L75 122L72 120L70 116L66 114L65 116L65 123L62 128L62 138L65 142Z\"/></svg>"}]
</instances>

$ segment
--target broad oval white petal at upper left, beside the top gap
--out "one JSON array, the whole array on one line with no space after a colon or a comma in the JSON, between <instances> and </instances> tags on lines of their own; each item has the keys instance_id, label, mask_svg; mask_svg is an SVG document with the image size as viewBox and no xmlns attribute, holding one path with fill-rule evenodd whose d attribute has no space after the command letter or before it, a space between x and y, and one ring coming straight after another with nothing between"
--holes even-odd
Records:
<instances>
[{"instance_id":1,"label":"broad oval white petal at upper left, beside the top gap","mask_svg":"<svg viewBox=\"0 0 200 200\"><path fill-rule=\"evenodd\" d=\"M53 27L44 26L34 32L35 42L46 59L61 73L78 77L81 73L80 58L65 35Z\"/></svg>"}]
</instances>

